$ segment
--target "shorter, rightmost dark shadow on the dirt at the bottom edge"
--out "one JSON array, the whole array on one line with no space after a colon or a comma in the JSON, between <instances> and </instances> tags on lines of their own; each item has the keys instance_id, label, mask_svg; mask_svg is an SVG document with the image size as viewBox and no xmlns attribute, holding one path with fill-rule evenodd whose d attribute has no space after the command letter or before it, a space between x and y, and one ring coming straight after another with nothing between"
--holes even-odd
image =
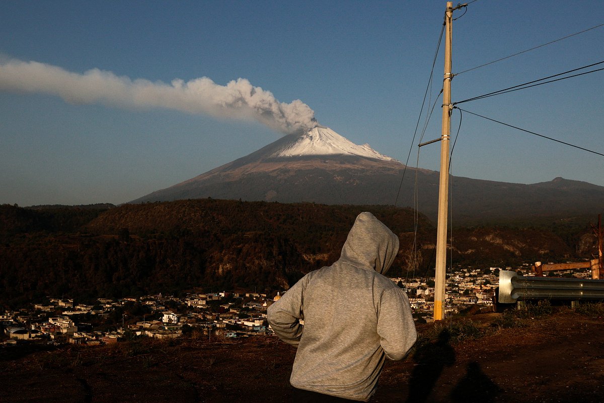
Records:
<instances>
[{"instance_id":1,"label":"shorter, rightmost dark shadow on the dirt at the bottom edge","mask_svg":"<svg viewBox=\"0 0 604 403\"><path fill-rule=\"evenodd\" d=\"M453 388L451 401L489 403L500 393L501 388L480 369L477 362L472 361L467 364L466 375Z\"/></svg>"}]
</instances>

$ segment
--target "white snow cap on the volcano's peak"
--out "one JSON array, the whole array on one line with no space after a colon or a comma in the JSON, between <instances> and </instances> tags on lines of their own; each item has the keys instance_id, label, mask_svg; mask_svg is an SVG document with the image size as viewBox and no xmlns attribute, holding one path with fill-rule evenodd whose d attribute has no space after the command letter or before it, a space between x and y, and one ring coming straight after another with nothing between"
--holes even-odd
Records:
<instances>
[{"instance_id":1,"label":"white snow cap on the volcano's peak","mask_svg":"<svg viewBox=\"0 0 604 403\"><path fill-rule=\"evenodd\" d=\"M358 155L374 160L396 161L394 158L372 149L369 144L358 146L329 127L317 126L298 137L292 135L292 138L291 142L272 153L271 156Z\"/></svg>"}]
</instances>

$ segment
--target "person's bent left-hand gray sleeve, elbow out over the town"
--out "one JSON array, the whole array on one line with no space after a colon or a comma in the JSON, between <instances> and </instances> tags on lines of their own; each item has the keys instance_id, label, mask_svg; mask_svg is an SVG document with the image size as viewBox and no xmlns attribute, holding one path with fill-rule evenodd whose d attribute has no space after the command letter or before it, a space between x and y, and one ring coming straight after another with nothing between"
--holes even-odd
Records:
<instances>
[{"instance_id":1,"label":"person's bent left-hand gray sleeve, elbow out over the town","mask_svg":"<svg viewBox=\"0 0 604 403\"><path fill-rule=\"evenodd\" d=\"M303 295L306 283L307 276L304 276L266 310L266 320L271 329L281 340L292 346L298 346L304 330L300 320L304 319Z\"/></svg>"}]
</instances>

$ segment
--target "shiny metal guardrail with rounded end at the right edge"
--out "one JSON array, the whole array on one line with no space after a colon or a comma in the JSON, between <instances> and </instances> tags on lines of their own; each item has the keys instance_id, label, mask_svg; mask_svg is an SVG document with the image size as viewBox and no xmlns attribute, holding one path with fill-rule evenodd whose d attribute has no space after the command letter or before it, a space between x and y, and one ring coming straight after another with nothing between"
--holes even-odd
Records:
<instances>
[{"instance_id":1,"label":"shiny metal guardrail with rounded end at the right edge","mask_svg":"<svg viewBox=\"0 0 604 403\"><path fill-rule=\"evenodd\" d=\"M531 299L604 299L604 280L524 277L515 271L499 272L498 302L510 304Z\"/></svg>"}]
</instances>

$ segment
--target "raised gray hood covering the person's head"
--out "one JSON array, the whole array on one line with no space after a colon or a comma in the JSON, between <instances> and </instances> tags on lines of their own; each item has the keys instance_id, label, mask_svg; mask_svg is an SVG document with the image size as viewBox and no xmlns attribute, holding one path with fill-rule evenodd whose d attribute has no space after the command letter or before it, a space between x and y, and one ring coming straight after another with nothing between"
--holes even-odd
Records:
<instances>
[{"instance_id":1,"label":"raised gray hood covering the person's head","mask_svg":"<svg viewBox=\"0 0 604 403\"><path fill-rule=\"evenodd\" d=\"M340 260L385 274L399 251L399 237L367 211L356 217Z\"/></svg>"}]
</instances>

